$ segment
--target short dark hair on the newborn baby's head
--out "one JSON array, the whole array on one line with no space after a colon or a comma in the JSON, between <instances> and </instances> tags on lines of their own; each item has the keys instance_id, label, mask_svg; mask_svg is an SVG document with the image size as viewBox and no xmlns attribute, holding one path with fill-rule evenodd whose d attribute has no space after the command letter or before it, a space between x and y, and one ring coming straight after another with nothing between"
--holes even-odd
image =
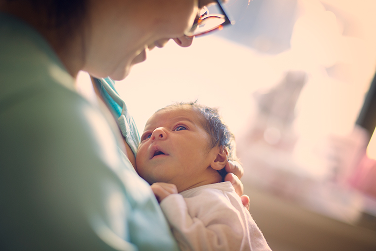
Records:
<instances>
[{"instance_id":1,"label":"short dark hair on the newborn baby's head","mask_svg":"<svg viewBox=\"0 0 376 251\"><path fill-rule=\"evenodd\" d=\"M218 113L217 108L210 108L206 105L198 104L197 100L194 102L178 102L170 104L160 110L190 106L192 109L198 111L202 116L202 127L209 134L211 138L210 148L223 147L229 152L228 159L237 161L235 154L235 137L230 131L229 127L223 122L222 117Z\"/></svg>"}]
</instances>

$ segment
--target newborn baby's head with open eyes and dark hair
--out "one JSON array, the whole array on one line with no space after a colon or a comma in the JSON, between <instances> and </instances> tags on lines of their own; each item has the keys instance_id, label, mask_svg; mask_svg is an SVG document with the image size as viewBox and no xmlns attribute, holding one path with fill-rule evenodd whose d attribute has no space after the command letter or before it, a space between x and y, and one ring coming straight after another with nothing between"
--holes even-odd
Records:
<instances>
[{"instance_id":1,"label":"newborn baby's head with open eyes and dark hair","mask_svg":"<svg viewBox=\"0 0 376 251\"><path fill-rule=\"evenodd\" d=\"M137 152L137 171L150 184L173 183L179 192L222 181L219 170L235 160L234 135L217 109L175 103L146 122Z\"/></svg>"}]
</instances>

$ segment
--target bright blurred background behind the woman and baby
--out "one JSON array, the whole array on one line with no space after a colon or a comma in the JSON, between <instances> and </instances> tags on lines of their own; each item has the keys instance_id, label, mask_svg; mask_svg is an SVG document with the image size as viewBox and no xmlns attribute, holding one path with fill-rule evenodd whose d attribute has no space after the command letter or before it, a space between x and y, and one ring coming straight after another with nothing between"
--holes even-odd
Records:
<instances>
[{"instance_id":1,"label":"bright blurred background behind the woman and baby","mask_svg":"<svg viewBox=\"0 0 376 251\"><path fill-rule=\"evenodd\" d=\"M359 124L376 71L376 1L229 0L227 9L234 26L189 48L170 41L116 83L140 134L172 102L219 107L272 250L375 251L375 126Z\"/></svg>"}]
</instances>

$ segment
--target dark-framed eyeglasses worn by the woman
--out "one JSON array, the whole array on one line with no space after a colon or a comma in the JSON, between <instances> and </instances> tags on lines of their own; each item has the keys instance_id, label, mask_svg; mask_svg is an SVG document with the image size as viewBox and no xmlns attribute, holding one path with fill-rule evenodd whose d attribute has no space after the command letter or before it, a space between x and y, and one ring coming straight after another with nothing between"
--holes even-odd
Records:
<instances>
[{"instance_id":1,"label":"dark-framed eyeglasses worn by the woman","mask_svg":"<svg viewBox=\"0 0 376 251\"><path fill-rule=\"evenodd\" d=\"M215 3L209 6L209 9L203 7L197 15L192 28L186 33L188 37L197 37L212 31L222 30L225 25L234 24L226 14L221 0L215 0Z\"/></svg>"}]
</instances>

